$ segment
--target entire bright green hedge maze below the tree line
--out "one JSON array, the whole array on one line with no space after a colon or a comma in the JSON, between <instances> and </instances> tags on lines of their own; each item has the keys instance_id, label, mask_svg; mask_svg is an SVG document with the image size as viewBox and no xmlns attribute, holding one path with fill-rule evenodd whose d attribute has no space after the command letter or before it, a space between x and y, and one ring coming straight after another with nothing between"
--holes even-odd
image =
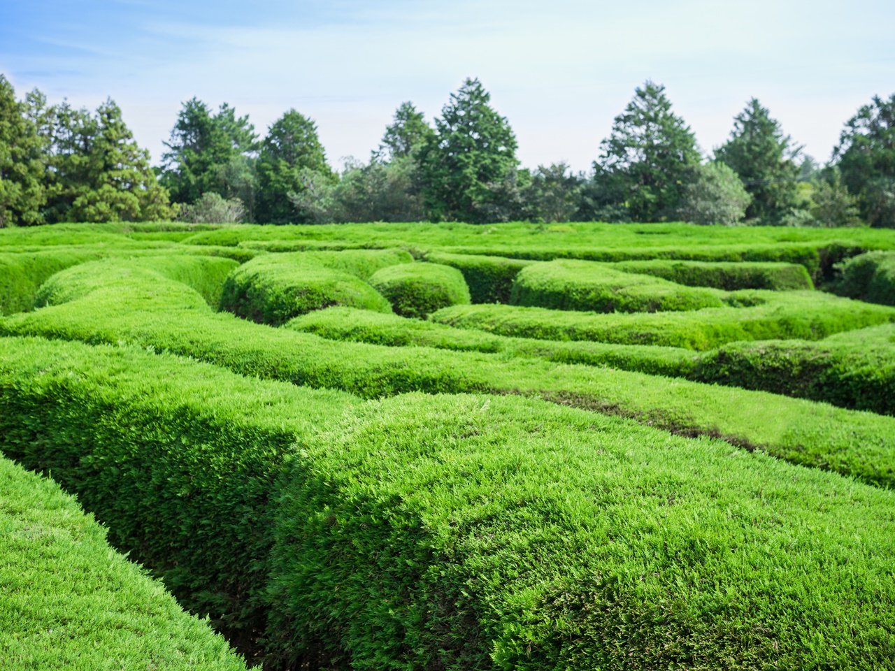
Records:
<instances>
[{"instance_id":1,"label":"entire bright green hedge maze below the tree line","mask_svg":"<svg viewBox=\"0 0 895 671\"><path fill-rule=\"evenodd\" d=\"M892 250L0 231L0 667L895 669Z\"/></svg>"}]
</instances>

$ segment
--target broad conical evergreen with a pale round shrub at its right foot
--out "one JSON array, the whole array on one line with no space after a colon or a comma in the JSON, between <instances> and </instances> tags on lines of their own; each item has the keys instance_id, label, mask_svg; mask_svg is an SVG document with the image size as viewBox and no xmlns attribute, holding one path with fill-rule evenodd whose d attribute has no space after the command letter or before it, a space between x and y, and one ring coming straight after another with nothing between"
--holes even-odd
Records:
<instances>
[{"instance_id":1,"label":"broad conical evergreen with a pale round shrub at its right foot","mask_svg":"<svg viewBox=\"0 0 895 671\"><path fill-rule=\"evenodd\" d=\"M673 217L700 158L695 136L671 111L665 87L646 81L601 142L593 166L599 207L635 221Z\"/></svg>"}]
</instances>

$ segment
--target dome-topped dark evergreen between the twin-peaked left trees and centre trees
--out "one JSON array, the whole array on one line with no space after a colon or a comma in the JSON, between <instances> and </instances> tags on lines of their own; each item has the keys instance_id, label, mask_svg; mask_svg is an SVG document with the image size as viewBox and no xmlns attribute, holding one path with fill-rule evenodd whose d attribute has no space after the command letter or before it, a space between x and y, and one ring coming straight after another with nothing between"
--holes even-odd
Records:
<instances>
[{"instance_id":1,"label":"dome-topped dark evergreen between the twin-peaked left trees and centre trees","mask_svg":"<svg viewBox=\"0 0 895 671\"><path fill-rule=\"evenodd\" d=\"M296 203L336 182L317 136L317 125L290 109L274 122L258 157L258 201L255 217L263 224L311 223L315 213Z\"/></svg>"}]
</instances>

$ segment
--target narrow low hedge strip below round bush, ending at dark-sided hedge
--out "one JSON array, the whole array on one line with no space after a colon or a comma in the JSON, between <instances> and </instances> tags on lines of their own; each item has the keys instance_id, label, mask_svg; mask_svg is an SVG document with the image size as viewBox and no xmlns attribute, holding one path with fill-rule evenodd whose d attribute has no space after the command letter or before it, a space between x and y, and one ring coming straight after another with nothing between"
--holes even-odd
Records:
<instances>
[{"instance_id":1,"label":"narrow low hedge strip below round bush, ending at dark-sided hedge","mask_svg":"<svg viewBox=\"0 0 895 671\"><path fill-rule=\"evenodd\" d=\"M434 347L458 352L502 352L513 357L536 357L558 363L583 363L639 370L652 375L686 376L699 354L678 347L588 343L561 343L493 335L482 331L447 327L431 321L397 315L327 308L286 323L286 328L312 333L328 340L382 344L389 347Z\"/></svg>"}]
</instances>

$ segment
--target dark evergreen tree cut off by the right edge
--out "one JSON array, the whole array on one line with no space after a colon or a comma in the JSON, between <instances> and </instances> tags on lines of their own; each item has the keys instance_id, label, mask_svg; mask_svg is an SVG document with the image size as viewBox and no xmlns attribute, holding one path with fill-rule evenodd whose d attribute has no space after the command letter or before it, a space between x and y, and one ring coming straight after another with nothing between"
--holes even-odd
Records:
<instances>
[{"instance_id":1,"label":"dark evergreen tree cut off by the right edge","mask_svg":"<svg viewBox=\"0 0 895 671\"><path fill-rule=\"evenodd\" d=\"M833 161L867 223L895 226L895 94L874 96L848 120Z\"/></svg>"}]
</instances>

